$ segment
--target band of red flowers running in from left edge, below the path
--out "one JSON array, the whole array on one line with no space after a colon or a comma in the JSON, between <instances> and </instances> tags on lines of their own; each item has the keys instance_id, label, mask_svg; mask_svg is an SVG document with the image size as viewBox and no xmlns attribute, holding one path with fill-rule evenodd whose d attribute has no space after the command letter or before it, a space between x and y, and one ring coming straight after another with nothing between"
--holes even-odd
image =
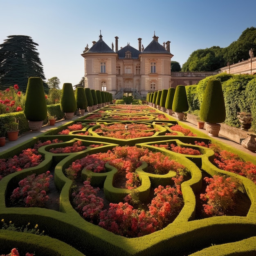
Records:
<instances>
[{"instance_id":1,"label":"band of red flowers running in from left edge, below the path","mask_svg":"<svg viewBox=\"0 0 256 256\"><path fill-rule=\"evenodd\" d=\"M17 156L13 156L9 159L0 159L0 180L10 173L21 171L26 168L34 167L43 161L42 155L38 154L38 148L51 143L61 142L58 139L45 142L38 141L33 148L27 148Z\"/></svg>"}]
</instances>

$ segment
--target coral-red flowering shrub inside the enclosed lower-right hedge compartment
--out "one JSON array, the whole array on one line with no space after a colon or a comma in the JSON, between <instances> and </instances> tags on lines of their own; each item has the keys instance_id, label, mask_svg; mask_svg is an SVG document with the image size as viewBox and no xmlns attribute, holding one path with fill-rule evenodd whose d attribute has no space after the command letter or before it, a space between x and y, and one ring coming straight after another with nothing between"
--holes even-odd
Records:
<instances>
[{"instance_id":1,"label":"coral-red flowering shrub inside the enclosed lower-right hedge compartment","mask_svg":"<svg viewBox=\"0 0 256 256\"><path fill-rule=\"evenodd\" d=\"M209 216L225 215L235 202L234 196L237 191L238 182L231 177L214 175L212 178L205 177L209 183L204 194L200 194L200 199L207 201L203 204L204 212Z\"/></svg>"}]
</instances>

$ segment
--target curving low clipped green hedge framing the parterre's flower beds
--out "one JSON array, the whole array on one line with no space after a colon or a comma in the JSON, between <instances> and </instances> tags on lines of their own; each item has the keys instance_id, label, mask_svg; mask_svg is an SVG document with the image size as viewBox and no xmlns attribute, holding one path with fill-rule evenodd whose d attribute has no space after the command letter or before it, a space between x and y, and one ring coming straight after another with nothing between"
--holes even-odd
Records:
<instances>
[{"instance_id":1,"label":"curving low clipped green hedge framing the parterre's flower beds","mask_svg":"<svg viewBox=\"0 0 256 256\"><path fill-rule=\"evenodd\" d=\"M162 125L165 129L168 129L168 124L171 124L171 122L174 122L174 124L176 122L171 117L169 117L168 119L169 120L164 120L164 124ZM65 141L61 143L61 145L68 145L70 144L70 140L75 140L75 138L83 139L85 144L104 144L104 146L93 148L90 150L84 150L78 153L71 153L62 156L60 154L59 156L56 156L56 159L54 159L54 155L56 154L47 152L47 146L40 148L39 151L42 154L44 154L45 157L42 163L40 163L38 166L34 168L28 168L17 173L12 173L4 177L0 181L0 218L4 218L7 221L11 220L16 225L26 225L28 221L31 223L36 223L40 227L43 227L43 229L47 230L48 234L53 238L62 240L64 243L70 243L71 245L79 249L79 251L82 252L83 254L97 253L101 255L170 255L171 252L172 255L184 255L188 254L188 252L191 253L198 251L199 249L202 248L202 245L204 245L204 247L206 248L205 250L208 250L207 247L210 247L211 244L216 243L227 243L228 248L234 248L234 241L244 240L249 237L254 237L256 235L256 185L252 181L248 180L245 177L236 175L235 173L227 173L225 171L222 171L213 164L211 164L210 159L213 157L213 151L210 149L202 148L200 146L194 146L195 148L200 149L201 152L204 154L200 156L193 156L193 159L191 159L191 156L189 155L180 155L165 150L163 148L159 149L154 146L150 146L152 144L160 144L162 142L166 143L171 141L175 141L177 145L182 146L186 146L187 144L193 143L193 141L199 139L201 141L209 141L209 137L207 135L198 131L197 129L193 129L188 126L186 127L186 125L183 123L183 127L189 128L199 137L185 137L182 135L159 135L155 137L144 137L134 140L128 140L127 143L130 145L136 144L137 146L146 146L152 150L161 150L162 152L165 152L166 155L171 155L172 159L175 159L178 162L186 165L186 168L188 169L191 175L191 179L182 183L184 207L182 208L180 214L177 216L174 222L169 224L164 229L156 231L150 235L142 236L139 238L125 238L122 236L112 234L111 232L102 229L101 227L95 226L92 223L83 220L79 213L77 213L70 204L70 193L73 182L64 175L65 168L67 168L72 162L74 162L74 160L84 157L87 153L103 152L104 150L113 148L114 146L120 145L121 143L120 141L111 140L111 138L100 137L97 135L83 136L74 135L72 133L70 135L56 135L60 130L64 129L70 124L76 123L77 121L83 122L85 120L77 119L75 121L69 122L61 128L55 128L53 130L50 130L49 132L46 132L43 135L33 138L23 144L18 145L15 148L11 148L10 150L7 150L4 153L0 154L1 158L6 158L18 154L18 152L20 152L22 149L33 146L38 139L47 140L58 138ZM95 120L93 121L95 122ZM88 123L90 121L86 120L86 122ZM110 122L111 121L109 121L108 123ZM146 123L148 122L153 123L156 121L147 120ZM177 123L180 124L179 122ZM85 129L90 128L91 126L86 126ZM231 149L226 145L218 143L216 139L211 138L211 141L212 143L221 145L223 149ZM54 147L57 147L56 145L54 145ZM247 155L238 150L231 149L231 151L234 153L238 153L240 157L242 157L243 159L256 164L255 157ZM192 161L190 161L188 158L191 159ZM31 173L39 174L47 171L52 162L57 163L54 171L54 179L56 186L61 191L59 211L54 211L51 209L41 209L36 207L7 208L5 206L5 198L7 194L10 193L11 189L13 189L13 186L15 186L15 184L18 184L19 180L21 180L23 177L26 177ZM111 172L115 171L114 168L112 168L111 166L107 166L107 168L109 168L109 170L112 169L112 171L107 173L108 175ZM145 180L144 191L146 192L144 195L142 194L142 197L147 195L147 186L149 186L150 183L155 184L155 186L157 186L157 182L159 179L159 177L156 177L156 175L144 173L144 168L146 168L146 166L141 166L141 168L137 169L137 172L139 173L141 179ZM252 203L246 217L218 216L202 220L194 220L196 206L195 192L198 191L198 189L200 189L202 183L202 173L200 171L200 168L202 168L210 175L225 174L229 176L235 176L241 181L242 186L240 190L247 193ZM83 175L85 175L84 177L88 175L85 170L83 171ZM95 176L97 175L95 174ZM100 177L100 179L103 183L104 178ZM109 191L108 193L115 194L116 189L113 189L110 180L108 180L108 182L106 181L107 178L106 180L104 180L103 186L107 187L107 190ZM98 182L97 177L95 182ZM113 197L113 195L110 195L110 198ZM16 240L16 234L17 233L14 232L14 235L12 236L13 239L11 240ZM65 236L63 236L63 234L65 234ZM74 234L76 235L74 236ZM237 243L239 244L239 242ZM31 247L32 246L33 243L31 242ZM210 249L212 248L209 248L209 250ZM255 245L253 245L253 243L248 246L247 251L249 252L250 250L255 252Z\"/></svg>"}]
</instances>

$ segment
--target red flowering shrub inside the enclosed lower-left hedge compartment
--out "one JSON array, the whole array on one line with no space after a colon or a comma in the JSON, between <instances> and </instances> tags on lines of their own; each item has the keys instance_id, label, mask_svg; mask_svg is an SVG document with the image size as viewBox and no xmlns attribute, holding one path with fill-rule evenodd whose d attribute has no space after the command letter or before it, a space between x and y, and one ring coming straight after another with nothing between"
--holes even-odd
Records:
<instances>
[{"instance_id":1,"label":"red flowering shrub inside the enclosed lower-left hedge compartment","mask_svg":"<svg viewBox=\"0 0 256 256\"><path fill-rule=\"evenodd\" d=\"M49 171L36 176L35 173L20 180L19 186L11 194L11 202L14 205L25 207L44 207L49 199L46 192L49 191L49 181L52 175Z\"/></svg>"}]
</instances>

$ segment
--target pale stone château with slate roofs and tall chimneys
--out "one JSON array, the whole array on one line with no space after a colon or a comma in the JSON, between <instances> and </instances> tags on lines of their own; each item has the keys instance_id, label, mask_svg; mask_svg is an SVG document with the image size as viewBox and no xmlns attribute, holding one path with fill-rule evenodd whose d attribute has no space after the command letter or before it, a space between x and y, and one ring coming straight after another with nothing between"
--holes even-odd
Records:
<instances>
[{"instance_id":1,"label":"pale stone ch\u00e2teau with slate roofs and tall chimneys","mask_svg":"<svg viewBox=\"0 0 256 256\"><path fill-rule=\"evenodd\" d=\"M153 36L151 43L144 49L139 41L139 50L129 44L118 50L112 49L99 36L98 42L85 48L85 88L108 91L113 98L122 99L124 94L135 99L146 98L148 92L171 87L170 41L160 45L158 37Z\"/></svg>"}]
</instances>

